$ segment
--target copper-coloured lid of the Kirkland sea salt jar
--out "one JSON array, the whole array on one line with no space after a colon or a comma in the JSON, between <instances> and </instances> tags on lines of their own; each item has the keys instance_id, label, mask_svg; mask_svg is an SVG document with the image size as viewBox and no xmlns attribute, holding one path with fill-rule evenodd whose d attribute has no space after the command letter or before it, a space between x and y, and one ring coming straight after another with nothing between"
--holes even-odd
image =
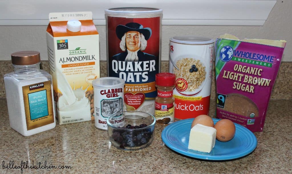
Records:
<instances>
[{"instance_id":1,"label":"copper-coloured lid of the Kirkland sea salt jar","mask_svg":"<svg viewBox=\"0 0 292 174\"><path fill-rule=\"evenodd\" d=\"M41 61L41 56L37 51L20 51L11 54L13 65L33 65Z\"/></svg>"}]
</instances>

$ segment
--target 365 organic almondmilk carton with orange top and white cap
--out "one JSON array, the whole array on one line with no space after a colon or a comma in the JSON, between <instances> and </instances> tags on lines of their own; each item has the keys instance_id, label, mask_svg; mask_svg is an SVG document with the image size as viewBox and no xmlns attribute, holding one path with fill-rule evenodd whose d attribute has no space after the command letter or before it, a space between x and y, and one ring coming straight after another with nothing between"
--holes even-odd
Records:
<instances>
[{"instance_id":1,"label":"365 organic almondmilk carton with orange top and white cap","mask_svg":"<svg viewBox=\"0 0 292 174\"><path fill-rule=\"evenodd\" d=\"M94 119L92 81L100 77L99 35L91 12L50 13L47 45L60 125Z\"/></svg>"}]
</instances>

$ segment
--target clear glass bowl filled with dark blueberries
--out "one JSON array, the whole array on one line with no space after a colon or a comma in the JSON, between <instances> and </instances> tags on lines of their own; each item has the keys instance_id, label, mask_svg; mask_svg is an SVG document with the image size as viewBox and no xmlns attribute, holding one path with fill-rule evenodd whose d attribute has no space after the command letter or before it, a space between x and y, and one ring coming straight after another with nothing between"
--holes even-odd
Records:
<instances>
[{"instance_id":1,"label":"clear glass bowl filled with dark blueberries","mask_svg":"<svg viewBox=\"0 0 292 174\"><path fill-rule=\"evenodd\" d=\"M107 119L109 141L122 150L139 150L154 138L155 117L140 111L124 111Z\"/></svg>"}]
</instances>

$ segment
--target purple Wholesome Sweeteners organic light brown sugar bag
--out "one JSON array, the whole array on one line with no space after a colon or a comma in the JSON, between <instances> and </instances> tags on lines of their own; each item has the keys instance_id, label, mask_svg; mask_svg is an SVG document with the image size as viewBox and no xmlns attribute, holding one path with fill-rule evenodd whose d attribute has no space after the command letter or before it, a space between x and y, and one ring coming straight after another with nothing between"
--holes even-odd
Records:
<instances>
[{"instance_id":1,"label":"purple Wholesome Sweeteners organic light brown sugar bag","mask_svg":"<svg viewBox=\"0 0 292 174\"><path fill-rule=\"evenodd\" d=\"M217 118L263 131L285 45L285 40L239 40L228 34L217 39Z\"/></svg>"}]
</instances>

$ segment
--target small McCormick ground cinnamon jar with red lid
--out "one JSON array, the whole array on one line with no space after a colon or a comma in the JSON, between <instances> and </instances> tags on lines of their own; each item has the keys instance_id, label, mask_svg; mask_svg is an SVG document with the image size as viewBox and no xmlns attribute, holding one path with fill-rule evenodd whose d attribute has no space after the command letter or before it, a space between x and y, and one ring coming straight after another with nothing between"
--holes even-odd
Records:
<instances>
[{"instance_id":1,"label":"small McCormick ground cinnamon jar with red lid","mask_svg":"<svg viewBox=\"0 0 292 174\"><path fill-rule=\"evenodd\" d=\"M174 97L175 74L162 72L155 76L157 97L155 98L156 123L168 125L174 121Z\"/></svg>"}]
</instances>

